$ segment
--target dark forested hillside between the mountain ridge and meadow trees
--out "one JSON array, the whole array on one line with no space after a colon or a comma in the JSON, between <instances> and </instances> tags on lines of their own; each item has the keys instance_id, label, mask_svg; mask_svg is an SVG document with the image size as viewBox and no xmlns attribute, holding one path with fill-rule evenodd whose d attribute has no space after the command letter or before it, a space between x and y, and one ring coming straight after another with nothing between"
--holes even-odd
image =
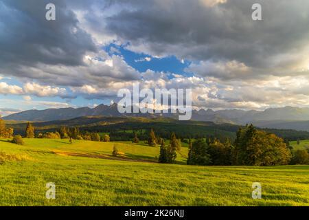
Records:
<instances>
[{"instance_id":1,"label":"dark forested hillside between the mountain ridge and meadow trees","mask_svg":"<svg viewBox=\"0 0 309 220\"><path fill-rule=\"evenodd\" d=\"M26 122L7 123L14 129L15 134L24 135ZM172 132L181 138L216 137L221 141L227 138L234 140L236 131L240 128L236 124L217 124L214 122L179 121L172 118L141 118L141 117L102 117L84 116L70 120L56 120L49 122L34 122L36 133L56 131L60 126L76 126L80 131L94 131L100 133L112 133L112 140L132 140L133 131L139 133L139 137L148 138L148 131L154 129L160 137L170 138ZM275 133L287 140L309 139L308 131L295 131L291 129L264 129L269 133Z\"/></svg>"}]
</instances>

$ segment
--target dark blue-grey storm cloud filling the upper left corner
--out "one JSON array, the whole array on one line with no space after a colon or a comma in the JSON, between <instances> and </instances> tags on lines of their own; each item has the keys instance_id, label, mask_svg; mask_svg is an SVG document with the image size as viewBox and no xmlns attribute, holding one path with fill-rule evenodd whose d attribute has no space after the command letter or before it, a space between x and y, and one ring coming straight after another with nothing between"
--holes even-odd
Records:
<instances>
[{"instance_id":1,"label":"dark blue-grey storm cloud filling the upper left corner","mask_svg":"<svg viewBox=\"0 0 309 220\"><path fill-rule=\"evenodd\" d=\"M91 36L78 27L78 20L65 1L52 2L56 5L56 21L45 19L45 5L50 1L0 1L2 67L36 63L81 65L84 52L96 51Z\"/></svg>"}]
</instances>

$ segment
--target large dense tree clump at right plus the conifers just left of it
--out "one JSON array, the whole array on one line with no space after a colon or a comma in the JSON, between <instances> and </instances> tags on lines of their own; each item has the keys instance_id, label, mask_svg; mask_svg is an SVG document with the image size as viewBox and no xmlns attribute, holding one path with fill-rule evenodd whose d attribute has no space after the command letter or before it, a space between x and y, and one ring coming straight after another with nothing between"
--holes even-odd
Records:
<instances>
[{"instance_id":1,"label":"large dense tree clump at right plus the conifers just left of it","mask_svg":"<svg viewBox=\"0 0 309 220\"><path fill-rule=\"evenodd\" d=\"M174 141L173 141L174 140ZM159 162L173 163L176 159L176 137L169 146L161 145ZM293 148L273 133L255 129L251 124L240 128L233 144L230 140L198 139L189 144L188 165L201 166L275 166L309 164L309 150Z\"/></svg>"}]
</instances>

